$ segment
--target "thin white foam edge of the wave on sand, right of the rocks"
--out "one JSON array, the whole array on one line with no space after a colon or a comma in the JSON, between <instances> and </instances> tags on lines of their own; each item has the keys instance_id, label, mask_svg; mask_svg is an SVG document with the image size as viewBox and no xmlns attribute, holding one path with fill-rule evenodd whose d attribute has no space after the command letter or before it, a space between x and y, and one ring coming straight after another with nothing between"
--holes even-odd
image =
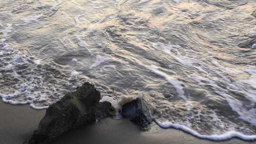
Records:
<instances>
[{"instance_id":1,"label":"thin white foam edge of the wave on sand, right of the rocks","mask_svg":"<svg viewBox=\"0 0 256 144\"><path fill-rule=\"evenodd\" d=\"M174 124L174 123L171 123L171 122L159 122L155 119L155 123L162 127L162 128L175 128L175 129L181 129L183 130L184 132L187 132L187 133L190 133L191 135L194 135L194 136L197 136L199 138L202 138L202 139L209 139L209 140L214 140L214 141L223 141L223 140L228 140L228 139L231 139L233 137L238 137L240 139L243 139L243 140L247 140L247 141L251 141L251 140L256 140L256 135L243 135L241 133L238 133L236 131L229 131L225 134L222 134L222 135L201 135L199 134L198 132L186 127L186 126L183 126L183 125L180 125L180 124Z\"/></svg>"}]
</instances>

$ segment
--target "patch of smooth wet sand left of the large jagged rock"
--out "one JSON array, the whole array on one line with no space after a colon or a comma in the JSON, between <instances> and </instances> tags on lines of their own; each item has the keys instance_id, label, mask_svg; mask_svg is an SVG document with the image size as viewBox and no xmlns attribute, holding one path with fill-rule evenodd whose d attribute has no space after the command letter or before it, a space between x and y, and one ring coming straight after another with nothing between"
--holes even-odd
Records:
<instances>
[{"instance_id":1,"label":"patch of smooth wet sand left of the large jagged rock","mask_svg":"<svg viewBox=\"0 0 256 144\"><path fill-rule=\"evenodd\" d=\"M46 110L10 105L0 99L0 144L22 144L37 129Z\"/></svg>"}]
</instances>

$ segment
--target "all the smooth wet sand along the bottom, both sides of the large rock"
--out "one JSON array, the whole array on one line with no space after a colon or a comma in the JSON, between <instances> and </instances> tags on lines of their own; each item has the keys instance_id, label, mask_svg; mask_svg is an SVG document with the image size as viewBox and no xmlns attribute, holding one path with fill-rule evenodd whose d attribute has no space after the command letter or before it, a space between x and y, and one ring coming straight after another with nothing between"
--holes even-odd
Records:
<instances>
[{"instance_id":1,"label":"all the smooth wet sand along the bottom, both sides of the large rock","mask_svg":"<svg viewBox=\"0 0 256 144\"><path fill-rule=\"evenodd\" d=\"M0 102L0 144L22 144L37 129L46 110L28 105L13 106ZM155 124L147 132L127 119L107 118L56 139L53 144L256 144L233 138L214 142L196 138L176 129L162 129Z\"/></svg>"}]
</instances>

